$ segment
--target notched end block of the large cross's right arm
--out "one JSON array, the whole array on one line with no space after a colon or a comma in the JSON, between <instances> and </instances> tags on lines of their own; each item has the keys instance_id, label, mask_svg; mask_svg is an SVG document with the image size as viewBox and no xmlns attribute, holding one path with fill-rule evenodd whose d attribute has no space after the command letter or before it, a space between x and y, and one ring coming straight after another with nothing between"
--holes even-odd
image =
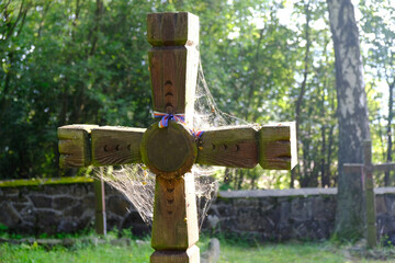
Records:
<instances>
[{"instance_id":1,"label":"notched end block of the large cross's right arm","mask_svg":"<svg viewBox=\"0 0 395 263\"><path fill-rule=\"evenodd\" d=\"M264 125L258 132L259 164L263 169L291 170L296 165L295 123Z\"/></svg>"}]
</instances>

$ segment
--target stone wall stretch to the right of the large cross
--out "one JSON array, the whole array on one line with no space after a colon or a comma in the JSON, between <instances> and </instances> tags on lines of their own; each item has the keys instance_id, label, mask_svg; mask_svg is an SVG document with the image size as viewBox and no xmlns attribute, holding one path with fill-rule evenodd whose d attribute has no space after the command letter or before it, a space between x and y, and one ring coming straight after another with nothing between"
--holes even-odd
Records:
<instances>
[{"instance_id":1,"label":"stone wall stretch to the right of the large cross","mask_svg":"<svg viewBox=\"0 0 395 263\"><path fill-rule=\"evenodd\" d=\"M376 188L379 236L395 236L395 187ZM260 240L323 240L335 227L336 188L221 192L205 228Z\"/></svg>"}]
</instances>

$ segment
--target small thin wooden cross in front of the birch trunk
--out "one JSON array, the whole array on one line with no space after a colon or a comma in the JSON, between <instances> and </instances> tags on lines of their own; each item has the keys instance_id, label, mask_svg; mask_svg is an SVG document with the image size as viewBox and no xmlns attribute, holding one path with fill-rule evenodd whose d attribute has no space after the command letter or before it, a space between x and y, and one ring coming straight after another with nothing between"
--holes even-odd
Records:
<instances>
[{"instance_id":1,"label":"small thin wooden cross in front of the birch trunk","mask_svg":"<svg viewBox=\"0 0 395 263\"><path fill-rule=\"evenodd\" d=\"M345 172L361 173L362 184L365 190L368 248L374 248L377 244L377 229L373 171L395 170L395 162L372 164L372 141L365 140L363 141L363 163L345 163L343 170Z\"/></svg>"}]
</instances>

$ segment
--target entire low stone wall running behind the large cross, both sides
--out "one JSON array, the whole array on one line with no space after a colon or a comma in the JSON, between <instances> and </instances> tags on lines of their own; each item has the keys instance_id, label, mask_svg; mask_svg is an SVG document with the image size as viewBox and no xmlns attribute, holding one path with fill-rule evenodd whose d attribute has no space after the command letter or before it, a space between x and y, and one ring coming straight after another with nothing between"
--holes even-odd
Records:
<instances>
[{"instance_id":1,"label":"entire low stone wall running behind the large cross, both sides","mask_svg":"<svg viewBox=\"0 0 395 263\"><path fill-rule=\"evenodd\" d=\"M395 235L395 187L376 191L380 236ZM117 191L105 187L108 227L150 229ZM334 231L336 188L221 192L203 228L262 240L327 239ZM11 231L75 232L92 227L90 183L0 188L0 224Z\"/></svg>"}]
</instances>

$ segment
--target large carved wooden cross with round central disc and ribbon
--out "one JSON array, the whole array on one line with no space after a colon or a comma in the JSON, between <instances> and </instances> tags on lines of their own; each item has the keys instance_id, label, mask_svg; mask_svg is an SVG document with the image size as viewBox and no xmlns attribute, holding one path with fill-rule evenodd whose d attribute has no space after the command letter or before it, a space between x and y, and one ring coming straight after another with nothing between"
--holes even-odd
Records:
<instances>
[{"instance_id":1,"label":"large carved wooden cross with round central disc and ribbon","mask_svg":"<svg viewBox=\"0 0 395 263\"><path fill-rule=\"evenodd\" d=\"M192 122L199 65L199 18L187 12L147 16L154 111ZM193 163L292 169L294 123L205 130L200 138L182 123L159 128L69 125L58 128L60 164L95 167L145 163L156 174L150 262L200 262Z\"/></svg>"}]
</instances>

